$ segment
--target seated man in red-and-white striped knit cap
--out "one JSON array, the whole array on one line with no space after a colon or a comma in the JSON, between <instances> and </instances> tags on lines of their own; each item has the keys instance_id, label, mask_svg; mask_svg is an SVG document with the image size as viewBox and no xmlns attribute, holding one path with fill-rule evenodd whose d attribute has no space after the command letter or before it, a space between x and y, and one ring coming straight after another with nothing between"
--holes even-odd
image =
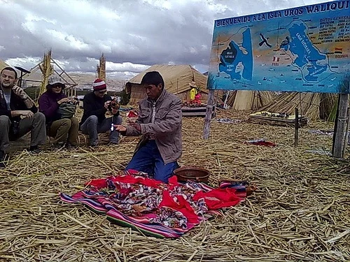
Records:
<instances>
[{"instance_id":1,"label":"seated man in red-and-white striped knit cap","mask_svg":"<svg viewBox=\"0 0 350 262\"><path fill-rule=\"evenodd\" d=\"M84 112L80 122L80 130L89 135L90 145L94 147L99 143L98 133L111 130L112 124L121 124L122 117L119 115L119 110L111 108L113 117L106 118L106 112L112 101L111 96L106 94L106 82L101 79L94 80L92 87L94 91L84 96ZM111 131L110 143L117 144L118 139L119 132Z\"/></svg>"}]
</instances>

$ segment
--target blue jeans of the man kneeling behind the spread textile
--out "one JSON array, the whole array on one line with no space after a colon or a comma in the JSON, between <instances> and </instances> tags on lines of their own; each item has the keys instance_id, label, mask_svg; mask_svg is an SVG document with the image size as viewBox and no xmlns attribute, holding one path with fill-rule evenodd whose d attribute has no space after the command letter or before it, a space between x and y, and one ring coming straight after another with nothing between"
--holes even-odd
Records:
<instances>
[{"instance_id":1,"label":"blue jeans of the man kneeling behind the spread textile","mask_svg":"<svg viewBox=\"0 0 350 262\"><path fill-rule=\"evenodd\" d=\"M148 175L153 175L155 180L167 183L178 166L177 161L164 163L155 140L148 140L146 145L137 150L125 170L134 169L148 173Z\"/></svg>"}]
</instances>

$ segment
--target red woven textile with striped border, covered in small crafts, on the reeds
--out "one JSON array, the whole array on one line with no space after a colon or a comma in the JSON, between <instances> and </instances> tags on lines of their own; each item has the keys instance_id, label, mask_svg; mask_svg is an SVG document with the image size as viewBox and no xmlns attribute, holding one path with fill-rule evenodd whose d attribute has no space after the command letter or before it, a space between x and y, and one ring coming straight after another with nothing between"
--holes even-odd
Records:
<instances>
[{"instance_id":1,"label":"red woven textile with striped border, covered in small crafts, on the reeds","mask_svg":"<svg viewBox=\"0 0 350 262\"><path fill-rule=\"evenodd\" d=\"M238 191L214 189L196 182L180 184L176 176L165 184L135 170L85 185L73 196L61 193L62 201L83 203L120 226L161 238L179 238L207 214L220 214L218 209L237 205L246 196L241 185Z\"/></svg>"}]
</instances>

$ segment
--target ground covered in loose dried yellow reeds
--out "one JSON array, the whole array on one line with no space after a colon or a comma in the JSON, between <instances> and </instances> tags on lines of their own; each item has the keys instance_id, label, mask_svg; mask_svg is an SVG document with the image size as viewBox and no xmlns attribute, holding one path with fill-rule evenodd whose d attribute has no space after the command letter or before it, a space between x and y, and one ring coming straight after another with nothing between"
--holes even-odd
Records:
<instances>
[{"instance_id":1,"label":"ground covered in loose dried yellow reeds","mask_svg":"<svg viewBox=\"0 0 350 262\"><path fill-rule=\"evenodd\" d=\"M183 120L181 164L208 168L214 186L221 177L255 183L259 190L244 203L182 238L148 238L58 197L123 169L137 138L97 152L18 152L0 171L0 261L350 261L349 160L304 152L330 150L331 137L308 130L331 124L301 129L295 149L292 128L212 122L211 138L202 140L203 123ZM279 145L243 143L253 138Z\"/></svg>"}]
</instances>

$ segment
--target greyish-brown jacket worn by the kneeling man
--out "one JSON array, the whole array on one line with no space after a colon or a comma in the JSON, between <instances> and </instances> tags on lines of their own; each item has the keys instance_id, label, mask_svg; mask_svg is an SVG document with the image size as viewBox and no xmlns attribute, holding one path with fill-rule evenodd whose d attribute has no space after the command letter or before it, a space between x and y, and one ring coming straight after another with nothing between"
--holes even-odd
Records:
<instances>
[{"instance_id":1,"label":"greyish-brown jacket worn by the kneeling man","mask_svg":"<svg viewBox=\"0 0 350 262\"><path fill-rule=\"evenodd\" d=\"M153 105L150 99L139 102L139 117L137 123L141 126L141 132L132 126L126 126L126 136L142 135L135 152L143 145L148 135L155 136L160 155L165 163L171 163L181 157L181 100L163 89L155 102L155 120L152 120Z\"/></svg>"}]
</instances>

